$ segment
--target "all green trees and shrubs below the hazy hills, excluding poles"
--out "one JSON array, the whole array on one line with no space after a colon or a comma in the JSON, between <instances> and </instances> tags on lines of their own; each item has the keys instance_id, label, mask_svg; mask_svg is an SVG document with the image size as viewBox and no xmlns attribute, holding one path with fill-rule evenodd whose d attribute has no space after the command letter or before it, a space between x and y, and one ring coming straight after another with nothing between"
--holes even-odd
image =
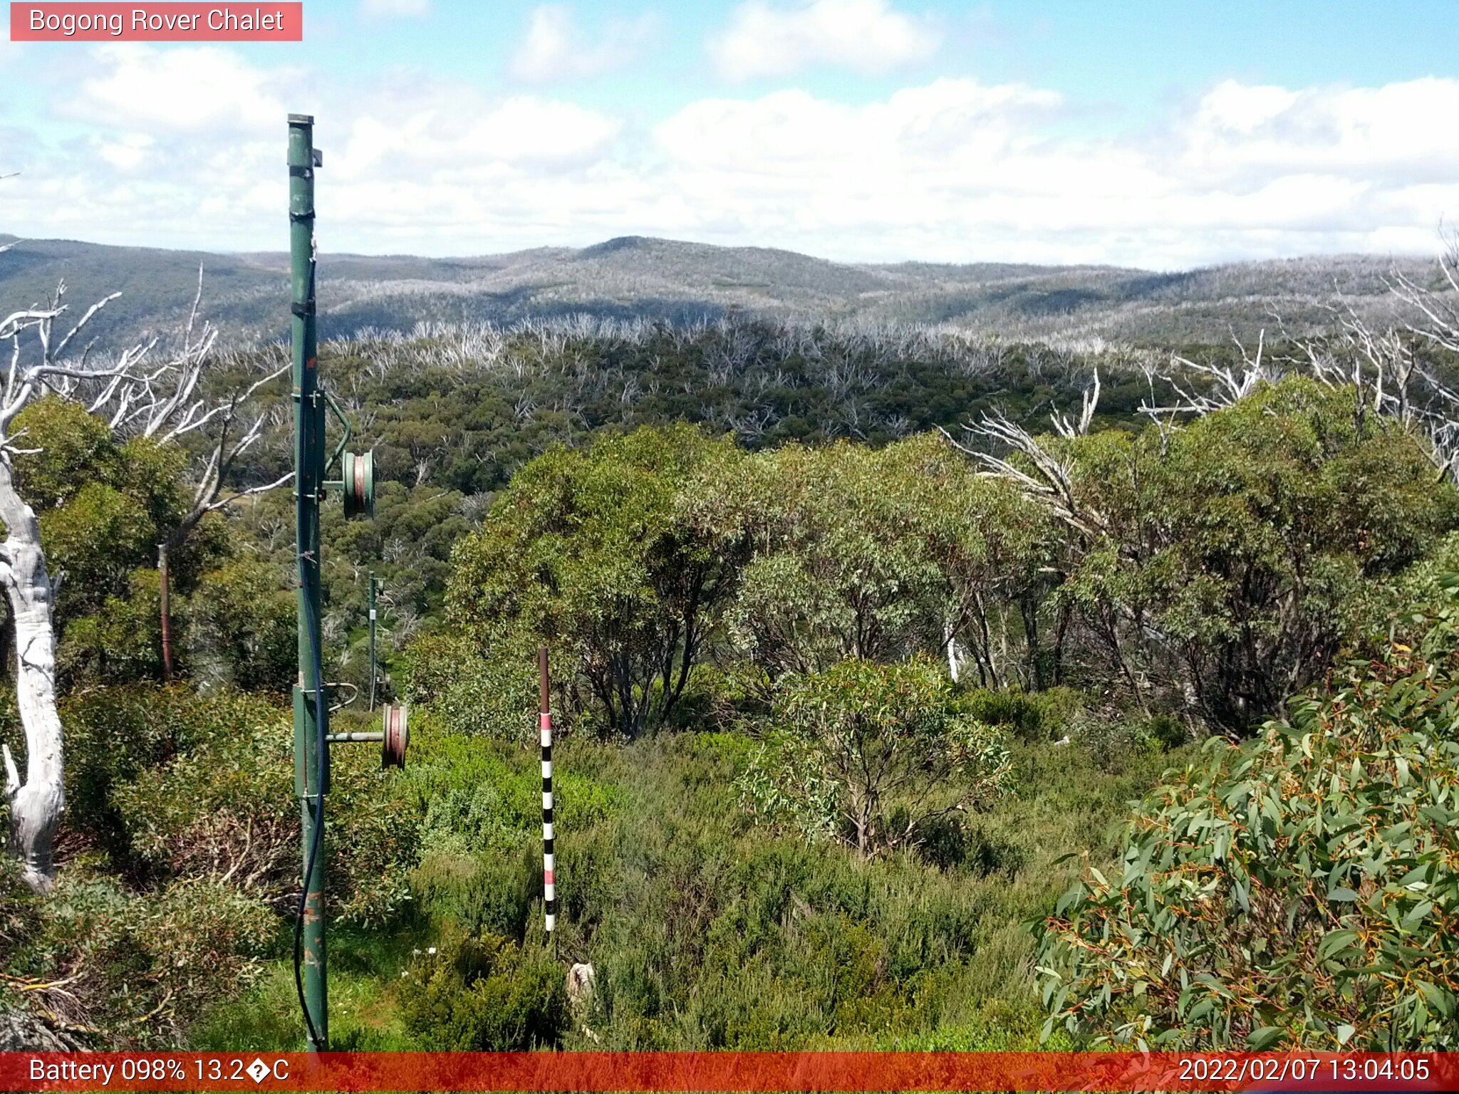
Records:
<instances>
[{"instance_id":1,"label":"all green trees and shrubs below the hazy hills, excluding poles","mask_svg":"<svg viewBox=\"0 0 1459 1094\"><path fill-rule=\"evenodd\" d=\"M1351 389L1147 424L1135 363L765 322L330 347L395 480L325 525L334 721L366 719L369 569L414 707L404 772L336 750L334 1046L1447 1046L1459 499ZM1055 496L935 432L1039 427L1090 365ZM296 1047L290 499L172 557L163 681L187 461L28 413L70 807L50 894L0 875L0 1008Z\"/></svg>"}]
</instances>

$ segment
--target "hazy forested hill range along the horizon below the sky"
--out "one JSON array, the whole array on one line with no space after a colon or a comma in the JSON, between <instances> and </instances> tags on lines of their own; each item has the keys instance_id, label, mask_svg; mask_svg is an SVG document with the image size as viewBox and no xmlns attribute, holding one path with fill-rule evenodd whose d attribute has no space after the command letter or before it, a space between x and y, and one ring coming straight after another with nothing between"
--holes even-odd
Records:
<instances>
[{"instance_id":1,"label":"hazy forested hill range along the horizon below the sky","mask_svg":"<svg viewBox=\"0 0 1459 1094\"><path fill-rule=\"evenodd\" d=\"M0 235L0 244L15 236ZM1017 340L1134 344L1255 337L1274 317L1297 331L1323 327L1341 293L1369 315L1389 306L1395 261L1424 277L1428 260L1322 257L1239 263L1186 273L1106 265L938 265L832 263L792 251L624 236L582 249L535 248L480 258L324 254L325 337L365 327L492 321L585 312L684 322L731 314L858 325L948 324ZM175 324L206 270L207 312L231 337L273 338L287 317L287 255L204 254L20 241L0 264L7 299L48 295L61 279L73 305L123 296L96 333L136 337Z\"/></svg>"}]
</instances>

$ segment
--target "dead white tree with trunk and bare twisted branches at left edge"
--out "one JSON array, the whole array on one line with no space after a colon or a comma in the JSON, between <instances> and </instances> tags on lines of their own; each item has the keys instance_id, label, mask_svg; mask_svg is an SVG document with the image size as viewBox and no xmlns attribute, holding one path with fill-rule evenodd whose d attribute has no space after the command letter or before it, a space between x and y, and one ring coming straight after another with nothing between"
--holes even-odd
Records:
<instances>
[{"instance_id":1,"label":"dead white tree with trunk and bare twisted branches at left edge","mask_svg":"<svg viewBox=\"0 0 1459 1094\"><path fill-rule=\"evenodd\" d=\"M0 585L15 623L16 705L25 732L25 779L7 744L0 744L4 763L4 794L10 804L10 845L22 859L25 881L44 891L54 878L53 846L66 807L64 732L55 694L55 592L35 511L15 483L13 458L26 451L25 430L15 420L35 398L54 394L83 406L123 436L143 435L158 443L175 443L200 429L214 427L212 457L206 461L194 493L188 527L201 516L241 496L282 486L268 486L222 497L222 481L233 459L257 441L263 417L231 436L238 408L248 395L280 372L264 376L241 395L209 400L200 394L203 369L216 341L207 324L194 337L194 300L181 349L155 360L158 340L136 344L115 360L93 366L92 346L77 354L70 350L95 315L118 293L98 300L61 337L55 322L66 311L66 284L44 306L12 312L0 319L0 344L10 343L10 366L0 397ZM22 335L34 334L34 347Z\"/></svg>"}]
</instances>

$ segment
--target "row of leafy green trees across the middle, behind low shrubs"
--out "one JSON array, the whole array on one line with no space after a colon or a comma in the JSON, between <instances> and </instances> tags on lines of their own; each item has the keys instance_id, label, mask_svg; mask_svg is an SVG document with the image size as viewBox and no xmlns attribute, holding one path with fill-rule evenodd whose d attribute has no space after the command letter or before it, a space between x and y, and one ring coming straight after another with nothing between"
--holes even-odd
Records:
<instances>
[{"instance_id":1,"label":"row of leafy green trees across the middle, behind low shrubs","mask_svg":"<svg viewBox=\"0 0 1459 1094\"><path fill-rule=\"evenodd\" d=\"M1459 519L1417 441L1354 417L1345 392L1288 379L1164 435L1050 442L1062 521L931 435L746 454L680 426L559 449L457 548L458 626L416 697L476 719L516 696L522 723L546 642L568 710L635 737L671 723L700 667L769 697L925 653L982 686L1072 684L1243 735Z\"/></svg>"}]
</instances>

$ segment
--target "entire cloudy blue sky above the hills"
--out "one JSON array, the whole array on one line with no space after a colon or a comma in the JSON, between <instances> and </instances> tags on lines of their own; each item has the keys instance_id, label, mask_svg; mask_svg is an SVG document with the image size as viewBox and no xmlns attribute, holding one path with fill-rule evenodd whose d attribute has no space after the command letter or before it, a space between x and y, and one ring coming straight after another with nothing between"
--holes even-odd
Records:
<instances>
[{"instance_id":1,"label":"entire cloudy blue sky above the hills","mask_svg":"<svg viewBox=\"0 0 1459 1094\"><path fill-rule=\"evenodd\" d=\"M1459 219L1455 0L303 13L302 42L0 41L0 232L285 249L289 112L317 118L322 254L1177 270L1433 254Z\"/></svg>"}]
</instances>

